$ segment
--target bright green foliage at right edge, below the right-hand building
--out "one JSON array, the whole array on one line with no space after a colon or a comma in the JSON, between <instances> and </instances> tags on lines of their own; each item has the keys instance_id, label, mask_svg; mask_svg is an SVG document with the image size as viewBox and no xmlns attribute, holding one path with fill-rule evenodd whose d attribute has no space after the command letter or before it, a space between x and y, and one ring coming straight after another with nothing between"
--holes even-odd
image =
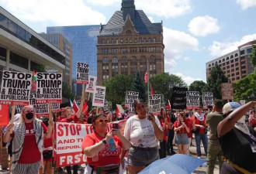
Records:
<instances>
[{"instance_id":1,"label":"bright green foliage at right edge, below the right-hand building","mask_svg":"<svg viewBox=\"0 0 256 174\"><path fill-rule=\"evenodd\" d=\"M256 101L256 73L250 73L234 83L235 101Z\"/></svg>"}]
</instances>

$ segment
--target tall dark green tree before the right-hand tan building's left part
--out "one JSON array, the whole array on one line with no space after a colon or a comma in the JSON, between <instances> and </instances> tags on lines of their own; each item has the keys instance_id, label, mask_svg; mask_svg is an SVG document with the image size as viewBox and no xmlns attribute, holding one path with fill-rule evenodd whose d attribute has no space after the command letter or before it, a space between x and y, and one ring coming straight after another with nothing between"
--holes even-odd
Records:
<instances>
[{"instance_id":1,"label":"tall dark green tree before the right-hand tan building's left part","mask_svg":"<svg viewBox=\"0 0 256 174\"><path fill-rule=\"evenodd\" d=\"M221 83L227 82L228 79L225 76L225 73L216 64L209 73L205 91L212 92L214 98L221 99Z\"/></svg>"}]
</instances>

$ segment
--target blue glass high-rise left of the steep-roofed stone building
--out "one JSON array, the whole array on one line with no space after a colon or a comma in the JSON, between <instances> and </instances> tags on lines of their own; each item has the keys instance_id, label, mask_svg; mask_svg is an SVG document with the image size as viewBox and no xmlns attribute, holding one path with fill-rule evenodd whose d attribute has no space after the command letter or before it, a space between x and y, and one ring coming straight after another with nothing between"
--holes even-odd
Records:
<instances>
[{"instance_id":1,"label":"blue glass high-rise left of the steep-roofed stone building","mask_svg":"<svg viewBox=\"0 0 256 174\"><path fill-rule=\"evenodd\" d=\"M72 78L76 76L78 62L88 63L89 74L97 77L97 36L100 25L94 26L51 26L47 34L61 33L72 44ZM81 94L80 86L75 83L76 94Z\"/></svg>"}]
</instances>

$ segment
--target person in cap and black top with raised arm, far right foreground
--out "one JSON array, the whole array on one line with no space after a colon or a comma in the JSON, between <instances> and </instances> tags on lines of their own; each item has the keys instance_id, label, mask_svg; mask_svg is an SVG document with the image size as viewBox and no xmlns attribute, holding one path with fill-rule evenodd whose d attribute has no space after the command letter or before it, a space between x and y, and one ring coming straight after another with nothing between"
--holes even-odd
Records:
<instances>
[{"instance_id":1,"label":"person in cap and black top with raised arm, far right foreground","mask_svg":"<svg viewBox=\"0 0 256 174\"><path fill-rule=\"evenodd\" d=\"M220 174L256 173L256 135L245 124L244 114L256 101L241 106L230 102L223 106L223 121L217 128L220 146L223 150L223 165Z\"/></svg>"}]
</instances>

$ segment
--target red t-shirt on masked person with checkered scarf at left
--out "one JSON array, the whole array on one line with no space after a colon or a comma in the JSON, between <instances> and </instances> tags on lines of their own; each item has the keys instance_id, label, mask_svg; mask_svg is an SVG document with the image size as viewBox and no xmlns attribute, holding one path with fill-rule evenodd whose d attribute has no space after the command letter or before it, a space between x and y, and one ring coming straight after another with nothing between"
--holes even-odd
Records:
<instances>
[{"instance_id":1,"label":"red t-shirt on masked person with checkered scarf at left","mask_svg":"<svg viewBox=\"0 0 256 174\"><path fill-rule=\"evenodd\" d=\"M33 128L33 122L25 123L26 131L25 138L23 143L22 152L19 157L18 163L20 164L30 164L34 162L38 162L41 160L41 154L36 145L36 135ZM47 126L43 124L43 133L47 133ZM30 155L29 155L30 154Z\"/></svg>"}]
</instances>

